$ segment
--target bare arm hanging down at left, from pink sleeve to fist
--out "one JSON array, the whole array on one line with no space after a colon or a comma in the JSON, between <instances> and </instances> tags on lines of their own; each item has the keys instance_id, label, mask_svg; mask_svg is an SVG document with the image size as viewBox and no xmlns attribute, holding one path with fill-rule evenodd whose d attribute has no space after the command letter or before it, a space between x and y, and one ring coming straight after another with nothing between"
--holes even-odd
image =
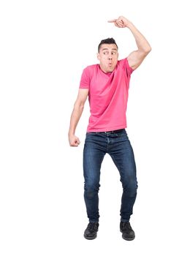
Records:
<instances>
[{"instance_id":1,"label":"bare arm hanging down at left, from pink sleeve to fist","mask_svg":"<svg viewBox=\"0 0 171 256\"><path fill-rule=\"evenodd\" d=\"M80 144L79 138L75 136L75 129L77 123L80 120L80 116L83 113L84 104L88 97L88 89L79 89L77 94L77 99L75 101L74 109L72 110L72 115L70 118L70 126L68 132L69 145L78 146Z\"/></svg>"}]
</instances>

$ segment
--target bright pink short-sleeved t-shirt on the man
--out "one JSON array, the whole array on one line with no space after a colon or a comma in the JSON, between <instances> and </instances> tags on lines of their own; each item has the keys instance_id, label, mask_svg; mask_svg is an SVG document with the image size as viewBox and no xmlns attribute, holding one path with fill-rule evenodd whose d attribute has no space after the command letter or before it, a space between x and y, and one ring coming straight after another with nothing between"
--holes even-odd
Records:
<instances>
[{"instance_id":1,"label":"bright pink short-sleeved t-shirt on the man","mask_svg":"<svg viewBox=\"0 0 171 256\"><path fill-rule=\"evenodd\" d=\"M103 72L99 64L83 69L80 89L89 89L91 111L87 132L126 128L129 80L133 70L127 59L118 61L113 72Z\"/></svg>"}]
</instances>

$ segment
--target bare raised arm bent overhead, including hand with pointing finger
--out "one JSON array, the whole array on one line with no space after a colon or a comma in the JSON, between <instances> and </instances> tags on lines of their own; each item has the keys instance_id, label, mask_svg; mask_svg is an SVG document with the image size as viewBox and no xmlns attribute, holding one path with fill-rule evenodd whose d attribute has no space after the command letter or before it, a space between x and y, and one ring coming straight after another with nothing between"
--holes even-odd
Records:
<instances>
[{"instance_id":1,"label":"bare raised arm bent overhead, including hand with pointing finger","mask_svg":"<svg viewBox=\"0 0 171 256\"><path fill-rule=\"evenodd\" d=\"M148 53L150 53L151 45L149 45L147 39L145 39L145 37L134 26L134 24L123 16L120 16L115 20L109 20L108 22L114 23L118 28L128 28L130 31L132 31L134 39L137 43L137 50L134 50L132 53L130 53L127 59L129 66L132 67L132 69L137 69L137 67L140 66Z\"/></svg>"}]
</instances>

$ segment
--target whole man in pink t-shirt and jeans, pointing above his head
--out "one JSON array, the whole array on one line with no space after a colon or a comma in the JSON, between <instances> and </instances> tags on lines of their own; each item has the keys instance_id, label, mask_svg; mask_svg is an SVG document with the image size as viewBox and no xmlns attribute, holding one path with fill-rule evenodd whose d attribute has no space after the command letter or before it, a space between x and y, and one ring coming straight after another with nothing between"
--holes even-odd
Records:
<instances>
[{"instance_id":1,"label":"whole man in pink t-shirt and jeans, pointing above his head","mask_svg":"<svg viewBox=\"0 0 171 256\"><path fill-rule=\"evenodd\" d=\"M133 23L123 16L109 22L118 28L128 28L137 43L137 50L130 53L126 59L118 61L118 46L115 40L108 38L100 42L97 53L99 64L83 70L70 120L69 145L80 144L79 138L75 136L75 129L88 97L91 116L83 150L83 173L84 199L89 223L84 237L96 238L99 227L100 168L104 155L108 153L121 176L123 195L120 230L123 239L130 241L135 237L129 219L137 196L137 176L134 152L125 129L126 105L131 74L151 51L151 46Z\"/></svg>"}]
</instances>

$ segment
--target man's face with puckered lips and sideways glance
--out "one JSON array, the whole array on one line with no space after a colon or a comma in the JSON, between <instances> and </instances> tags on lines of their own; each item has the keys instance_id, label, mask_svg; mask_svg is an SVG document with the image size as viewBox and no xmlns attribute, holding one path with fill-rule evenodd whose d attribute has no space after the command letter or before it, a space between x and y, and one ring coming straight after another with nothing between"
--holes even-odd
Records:
<instances>
[{"instance_id":1,"label":"man's face with puckered lips and sideways glance","mask_svg":"<svg viewBox=\"0 0 171 256\"><path fill-rule=\"evenodd\" d=\"M118 61L118 49L115 44L103 44L97 53L99 65L104 72L113 72Z\"/></svg>"}]
</instances>

